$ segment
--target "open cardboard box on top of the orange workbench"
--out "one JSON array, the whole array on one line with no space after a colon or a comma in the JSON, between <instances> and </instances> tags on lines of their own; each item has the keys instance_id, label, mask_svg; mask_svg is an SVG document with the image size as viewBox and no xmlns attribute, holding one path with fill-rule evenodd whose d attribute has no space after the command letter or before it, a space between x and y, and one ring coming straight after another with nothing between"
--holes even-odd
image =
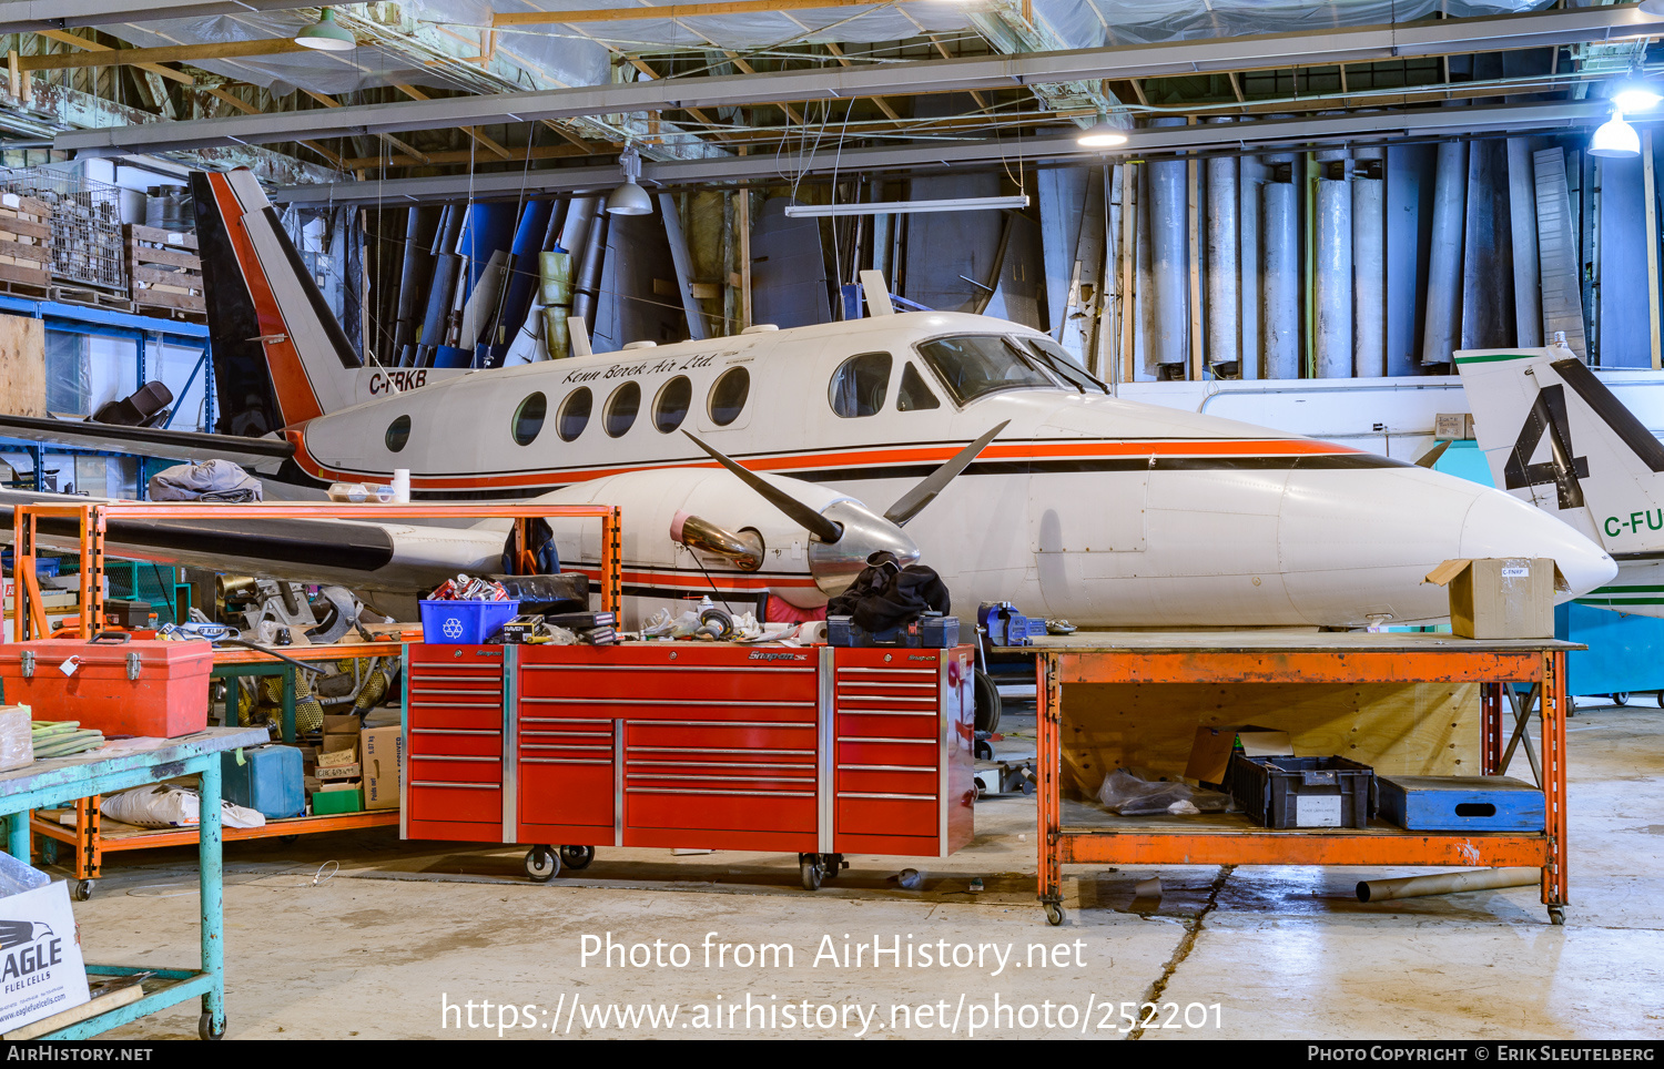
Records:
<instances>
[{"instance_id":1,"label":"open cardboard box on top of the orange workbench","mask_svg":"<svg viewBox=\"0 0 1664 1069\"><path fill-rule=\"evenodd\" d=\"M1426 582L1449 587L1451 632L1463 638L1553 638L1554 592L1571 589L1553 557L1446 560Z\"/></svg>"}]
</instances>

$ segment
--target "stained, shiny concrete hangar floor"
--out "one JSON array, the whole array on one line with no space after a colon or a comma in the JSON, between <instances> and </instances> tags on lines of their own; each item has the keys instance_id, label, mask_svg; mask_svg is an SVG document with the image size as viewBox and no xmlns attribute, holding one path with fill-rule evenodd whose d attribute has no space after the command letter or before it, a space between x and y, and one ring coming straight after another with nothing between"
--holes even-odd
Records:
<instances>
[{"instance_id":1,"label":"stained, shiny concrete hangar floor","mask_svg":"<svg viewBox=\"0 0 1664 1069\"><path fill-rule=\"evenodd\" d=\"M1032 748L1032 713L1005 727ZM1567 732L1564 928L1536 888L1356 901L1403 869L1085 866L1048 928L1020 796L978 803L919 889L894 860L807 893L794 856L606 848L534 884L522 850L373 830L226 846L228 1036L1664 1037L1664 710L1584 698ZM77 906L97 961L188 966L195 918L186 850L106 856ZM110 1037L195 1037L196 1016Z\"/></svg>"}]
</instances>

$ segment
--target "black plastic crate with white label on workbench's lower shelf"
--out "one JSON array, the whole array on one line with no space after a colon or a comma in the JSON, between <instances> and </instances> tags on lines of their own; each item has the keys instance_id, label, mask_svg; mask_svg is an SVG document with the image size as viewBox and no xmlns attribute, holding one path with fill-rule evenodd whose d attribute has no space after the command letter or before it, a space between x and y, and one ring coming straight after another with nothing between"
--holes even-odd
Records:
<instances>
[{"instance_id":1,"label":"black plastic crate with white label on workbench's lower shelf","mask_svg":"<svg viewBox=\"0 0 1664 1069\"><path fill-rule=\"evenodd\" d=\"M1231 798L1265 828L1369 826L1374 770L1343 756L1231 756Z\"/></svg>"}]
</instances>

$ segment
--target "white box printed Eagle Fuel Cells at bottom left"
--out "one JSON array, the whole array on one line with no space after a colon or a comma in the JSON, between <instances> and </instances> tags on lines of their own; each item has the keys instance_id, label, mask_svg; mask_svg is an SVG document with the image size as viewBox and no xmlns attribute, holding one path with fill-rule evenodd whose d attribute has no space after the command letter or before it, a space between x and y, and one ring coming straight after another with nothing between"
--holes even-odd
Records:
<instances>
[{"instance_id":1,"label":"white box printed Eagle Fuel Cells at bottom left","mask_svg":"<svg viewBox=\"0 0 1664 1069\"><path fill-rule=\"evenodd\" d=\"M0 926L8 933L0 948L0 976L7 978L0 984L0 1032L13 1032L92 998L67 883L58 879L0 898Z\"/></svg>"}]
</instances>

